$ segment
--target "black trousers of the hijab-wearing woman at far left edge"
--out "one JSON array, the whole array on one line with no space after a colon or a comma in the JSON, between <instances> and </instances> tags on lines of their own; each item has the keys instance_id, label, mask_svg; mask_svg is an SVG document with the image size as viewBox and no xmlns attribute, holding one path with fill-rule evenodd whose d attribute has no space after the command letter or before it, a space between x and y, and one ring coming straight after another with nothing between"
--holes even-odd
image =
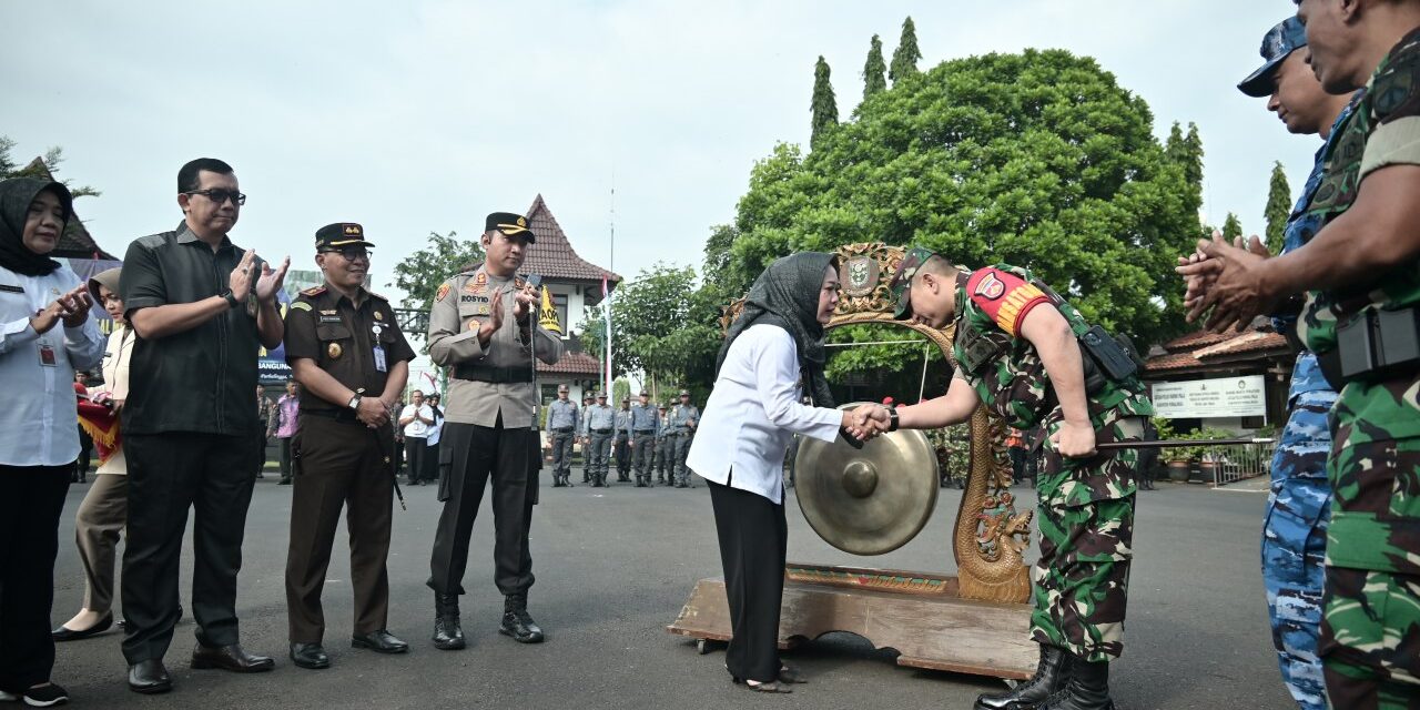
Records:
<instances>
[{"instance_id":1,"label":"black trousers of the hijab-wearing woman at far left edge","mask_svg":"<svg viewBox=\"0 0 1420 710\"><path fill-rule=\"evenodd\" d=\"M50 680L54 557L74 466L0 466L0 690Z\"/></svg>"}]
</instances>

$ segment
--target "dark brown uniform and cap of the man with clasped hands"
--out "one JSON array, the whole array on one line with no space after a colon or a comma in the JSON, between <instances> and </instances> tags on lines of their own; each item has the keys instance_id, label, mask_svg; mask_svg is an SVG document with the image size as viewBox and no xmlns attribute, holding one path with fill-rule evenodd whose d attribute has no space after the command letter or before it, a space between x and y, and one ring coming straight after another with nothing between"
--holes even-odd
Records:
<instances>
[{"instance_id":1,"label":"dark brown uniform and cap of the man with clasped hands","mask_svg":"<svg viewBox=\"0 0 1420 710\"><path fill-rule=\"evenodd\" d=\"M364 243L359 224L341 224ZM322 229L321 233L325 233ZM327 243L317 240L317 247ZM327 285L308 288L285 314L285 359L308 358L352 390L378 398L389 369L415 359L385 297L361 290L358 302ZM285 601L293 643L321 643L321 588L331 562L335 525L348 506L355 635L385 629L389 612L389 525L393 508L393 427L369 429L348 402L327 402L307 390L301 430L293 442L298 469L291 491L291 542Z\"/></svg>"}]
</instances>

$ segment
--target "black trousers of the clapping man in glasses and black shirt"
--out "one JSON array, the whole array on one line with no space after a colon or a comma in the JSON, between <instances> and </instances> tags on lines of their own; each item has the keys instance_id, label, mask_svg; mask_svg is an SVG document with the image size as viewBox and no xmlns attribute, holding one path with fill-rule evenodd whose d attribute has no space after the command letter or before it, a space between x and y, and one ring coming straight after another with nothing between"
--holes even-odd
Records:
<instances>
[{"instance_id":1,"label":"black trousers of the clapping man in glasses and black shirt","mask_svg":"<svg viewBox=\"0 0 1420 710\"><path fill-rule=\"evenodd\" d=\"M128 545L124 657L162 659L178 623L178 562L193 510L192 616L197 643L237 643L237 572L256 471L251 436L169 432L124 437Z\"/></svg>"}]
</instances>

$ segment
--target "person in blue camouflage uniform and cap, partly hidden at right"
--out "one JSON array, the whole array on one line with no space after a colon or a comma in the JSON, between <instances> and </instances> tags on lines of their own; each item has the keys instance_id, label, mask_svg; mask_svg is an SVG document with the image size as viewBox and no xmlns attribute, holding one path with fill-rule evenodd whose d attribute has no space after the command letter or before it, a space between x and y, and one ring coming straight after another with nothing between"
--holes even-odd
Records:
<instances>
[{"instance_id":1,"label":"person in blue camouflage uniform and cap, partly hidden at right","mask_svg":"<svg viewBox=\"0 0 1420 710\"><path fill-rule=\"evenodd\" d=\"M1268 109L1284 118L1287 129L1321 135L1325 145L1301 199L1287 223L1284 253L1301 248L1316 230L1321 217L1306 212L1321 186L1323 156L1336 128L1350 115L1350 98L1326 94L1306 65L1306 30L1288 17L1262 37L1261 68L1238 84L1254 98L1268 98ZM1301 51L1298 51L1301 50ZM1277 332L1291 332L1296 314L1274 314ZM1282 682L1302 710L1326 709L1326 683L1316 639L1322 623L1326 525L1331 521L1331 484L1326 483L1326 454L1331 430L1326 413L1336 392L1322 376L1316 355L1305 348L1292 368L1288 419L1272 456L1272 486L1262 524L1262 581L1272 622Z\"/></svg>"}]
</instances>

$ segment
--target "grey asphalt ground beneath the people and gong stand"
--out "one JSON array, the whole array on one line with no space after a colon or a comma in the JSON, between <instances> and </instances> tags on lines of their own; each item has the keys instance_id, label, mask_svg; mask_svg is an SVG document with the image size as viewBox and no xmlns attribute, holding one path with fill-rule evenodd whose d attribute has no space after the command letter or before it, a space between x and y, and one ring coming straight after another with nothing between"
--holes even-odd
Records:
<instances>
[{"instance_id":1,"label":"grey asphalt ground beneath the people and gong stand","mask_svg":"<svg viewBox=\"0 0 1420 710\"><path fill-rule=\"evenodd\" d=\"M578 481L581 471L574 470ZM371 707L371 709L711 709L711 707L943 707L968 709L1003 687L998 680L916 670L893 663L890 650L832 633L790 652L811 682L788 696L750 693L730 683L723 652L699 655L673 636L686 595L720 574L714 520L704 481L693 490L613 484L552 488L544 471L532 523L537 584L530 611L547 630L542 645L523 646L497 633L503 599L493 585L488 501L473 531L463 598L469 649L442 652L429 643L433 594L429 551L440 504L432 486L406 488L408 511L395 511L389 558L389 629L412 650L381 656L349 648L351 585L344 527L325 585L328 670L295 667L285 656L285 568L290 487L257 481L247 517L244 567L237 594L243 645L277 657L270 673L239 676L192 670L190 615L168 653L176 689L145 697L125 684L119 632L61 643L54 680L75 707ZM1277 670L1258 571L1265 508L1260 486L1211 490L1160 484L1139 496L1135 564L1125 655L1110 684L1119 707L1288 709ZM1248 490L1250 488L1250 490ZM70 488L60 528L54 623L72 615L84 594L74 547L74 511L88 486ZM1034 506L1015 488L1018 506ZM950 530L960 491L943 490L932 521L892 554L863 558L834 550L804 521L788 496L790 559L933 572L954 572ZM1034 550L1028 552L1034 559ZM187 609L192 541L183 552L182 598Z\"/></svg>"}]
</instances>

